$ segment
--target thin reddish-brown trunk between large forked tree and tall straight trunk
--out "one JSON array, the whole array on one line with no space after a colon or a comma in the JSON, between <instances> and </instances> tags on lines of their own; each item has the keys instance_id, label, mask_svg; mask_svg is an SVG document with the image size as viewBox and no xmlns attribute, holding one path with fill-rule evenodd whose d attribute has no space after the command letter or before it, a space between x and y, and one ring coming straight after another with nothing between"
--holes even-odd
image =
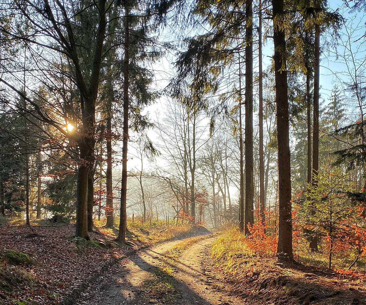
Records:
<instances>
[{"instance_id":1,"label":"thin reddish-brown trunk between large forked tree and tall straight trunk","mask_svg":"<svg viewBox=\"0 0 366 305\"><path fill-rule=\"evenodd\" d=\"M107 224L108 228L114 227L113 222L113 190L112 190L112 105L108 98L107 114Z\"/></svg>"}]
</instances>

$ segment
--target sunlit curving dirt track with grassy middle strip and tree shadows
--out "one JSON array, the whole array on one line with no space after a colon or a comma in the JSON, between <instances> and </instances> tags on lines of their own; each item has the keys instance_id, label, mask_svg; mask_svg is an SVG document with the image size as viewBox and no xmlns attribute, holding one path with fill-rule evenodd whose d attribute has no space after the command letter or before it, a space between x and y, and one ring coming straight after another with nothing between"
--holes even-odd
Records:
<instances>
[{"instance_id":1,"label":"sunlit curving dirt track with grassy middle strip and tree shadows","mask_svg":"<svg viewBox=\"0 0 366 305\"><path fill-rule=\"evenodd\" d=\"M82 293L77 305L236 305L203 264L213 235L165 242L121 261Z\"/></svg>"}]
</instances>

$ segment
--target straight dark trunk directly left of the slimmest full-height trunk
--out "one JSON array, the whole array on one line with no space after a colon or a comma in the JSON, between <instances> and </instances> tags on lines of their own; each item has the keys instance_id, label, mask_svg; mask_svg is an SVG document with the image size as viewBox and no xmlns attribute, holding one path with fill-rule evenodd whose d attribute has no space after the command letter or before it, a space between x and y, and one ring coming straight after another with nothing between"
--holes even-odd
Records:
<instances>
[{"instance_id":1,"label":"straight dark trunk directly left of the slimmest full-height trunk","mask_svg":"<svg viewBox=\"0 0 366 305\"><path fill-rule=\"evenodd\" d=\"M254 165L253 165L253 2L246 2L245 31L245 235L248 224L254 223Z\"/></svg>"}]
</instances>

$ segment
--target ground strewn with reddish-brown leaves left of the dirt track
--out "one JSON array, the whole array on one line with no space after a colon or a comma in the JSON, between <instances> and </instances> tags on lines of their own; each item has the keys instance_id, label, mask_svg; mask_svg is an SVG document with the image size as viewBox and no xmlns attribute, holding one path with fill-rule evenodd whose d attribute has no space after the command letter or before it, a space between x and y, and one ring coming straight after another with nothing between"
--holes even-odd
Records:
<instances>
[{"instance_id":1,"label":"ground strewn with reddish-brown leaves left of the dirt track","mask_svg":"<svg viewBox=\"0 0 366 305\"><path fill-rule=\"evenodd\" d=\"M91 241L74 225L0 227L0 304L73 304L87 284L136 251L174 238L207 233L203 227L131 227L133 247L113 242L118 231L97 227Z\"/></svg>"}]
</instances>

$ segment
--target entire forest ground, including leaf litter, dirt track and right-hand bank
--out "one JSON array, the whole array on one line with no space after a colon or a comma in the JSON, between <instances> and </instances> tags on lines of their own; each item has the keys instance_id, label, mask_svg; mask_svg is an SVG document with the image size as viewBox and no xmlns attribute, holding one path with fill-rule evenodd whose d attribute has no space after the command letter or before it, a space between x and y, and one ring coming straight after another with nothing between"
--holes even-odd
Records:
<instances>
[{"instance_id":1,"label":"entire forest ground, including leaf litter, dirt track and right-hand bank","mask_svg":"<svg viewBox=\"0 0 366 305\"><path fill-rule=\"evenodd\" d=\"M83 244L74 229L0 228L0 256L12 249L30 258L17 266L0 261L0 304L366 304L364 282L329 271L242 251L220 261L212 253L223 233L203 227L163 226L151 234L131 227L133 248L98 246L115 230L101 227Z\"/></svg>"}]
</instances>

